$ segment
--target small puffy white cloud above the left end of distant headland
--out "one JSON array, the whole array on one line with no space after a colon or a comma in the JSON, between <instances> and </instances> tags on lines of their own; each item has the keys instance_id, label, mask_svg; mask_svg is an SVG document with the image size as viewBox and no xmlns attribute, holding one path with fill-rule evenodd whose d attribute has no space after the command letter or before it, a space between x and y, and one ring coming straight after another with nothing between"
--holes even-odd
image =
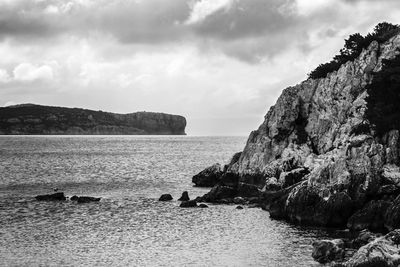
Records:
<instances>
[{"instance_id":1,"label":"small puffy white cloud above the left end of distant headland","mask_svg":"<svg viewBox=\"0 0 400 267\"><path fill-rule=\"evenodd\" d=\"M53 69L48 65L35 66L31 63L21 63L15 67L14 79L16 81L35 81L52 80L54 78Z\"/></svg>"}]
</instances>

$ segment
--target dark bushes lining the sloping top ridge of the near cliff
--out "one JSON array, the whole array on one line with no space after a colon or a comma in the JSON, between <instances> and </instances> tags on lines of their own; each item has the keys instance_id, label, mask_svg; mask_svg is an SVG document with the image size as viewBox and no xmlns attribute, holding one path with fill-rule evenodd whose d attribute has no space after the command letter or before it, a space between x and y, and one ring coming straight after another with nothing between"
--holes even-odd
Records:
<instances>
[{"instance_id":1,"label":"dark bushes lining the sloping top ridge of the near cliff","mask_svg":"<svg viewBox=\"0 0 400 267\"><path fill-rule=\"evenodd\" d=\"M365 37L359 33L352 34L345 40L344 48L340 49L338 55L334 56L330 62L320 64L308 74L308 77L311 79L325 78L328 73L338 70L344 63L356 59L372 41L384 43L398 32L400 32L399 25L382 22L376 25L374 31Z\"/></svg>"}]
</instances>

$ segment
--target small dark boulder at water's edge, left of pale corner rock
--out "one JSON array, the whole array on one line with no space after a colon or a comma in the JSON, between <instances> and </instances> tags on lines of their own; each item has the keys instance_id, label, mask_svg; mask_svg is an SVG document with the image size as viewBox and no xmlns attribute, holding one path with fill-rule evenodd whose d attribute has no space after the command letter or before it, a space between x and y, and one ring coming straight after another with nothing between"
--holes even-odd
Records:
<instances>
[{"instance_id":1,"label":"small dark boulder at water's edge, left of pale corner rock","mask_svg":"<svg viewBox=\"0 0 400 267\"><path fill-rule=\"evenodd\" d=\"M344 242L341 239L316 241L312 245L312 257L320 263L341 260L344 257Z\"/></svg>"}]
</instances>

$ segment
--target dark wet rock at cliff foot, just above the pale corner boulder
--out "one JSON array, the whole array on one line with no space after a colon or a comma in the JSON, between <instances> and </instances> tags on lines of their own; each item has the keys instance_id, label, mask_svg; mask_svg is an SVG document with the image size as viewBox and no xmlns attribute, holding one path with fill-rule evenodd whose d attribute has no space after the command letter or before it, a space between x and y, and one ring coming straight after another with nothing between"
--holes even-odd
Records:
<instances>
[{"instance_id":1,"label":"dark wet rock at cliff foot, just above the pale corner boulder","mask_svg":"<svg viewBox=\"0 0 400 267\"><path fill-rule=\"evenodd\" d=\"M347 227L355 231L384 231L384 216L389 205L390 202L383 200L370 201L349 218Z\"/></svg>"}]
</instances>

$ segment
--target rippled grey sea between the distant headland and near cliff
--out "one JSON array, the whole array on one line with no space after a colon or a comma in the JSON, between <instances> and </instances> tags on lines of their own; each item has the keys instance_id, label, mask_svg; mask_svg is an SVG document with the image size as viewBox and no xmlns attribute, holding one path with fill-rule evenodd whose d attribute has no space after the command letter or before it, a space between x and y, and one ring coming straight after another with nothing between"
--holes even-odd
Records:
<instances>
[{"instance_id":1,"label":"rippled grey sea between the distant headland and near cliff","mask_svg":"<svg viewBox=\"0 0 400 267\"><path fill-rule=\"evenodd\" d=\"M0 266L319 266L312 243L337 232L236 205L180 208L209 188L246 137L0 136ZM53 193L98 203L41 202ZM161 194L170 202L159 202Z\"/></svg>"}]
</instances>

